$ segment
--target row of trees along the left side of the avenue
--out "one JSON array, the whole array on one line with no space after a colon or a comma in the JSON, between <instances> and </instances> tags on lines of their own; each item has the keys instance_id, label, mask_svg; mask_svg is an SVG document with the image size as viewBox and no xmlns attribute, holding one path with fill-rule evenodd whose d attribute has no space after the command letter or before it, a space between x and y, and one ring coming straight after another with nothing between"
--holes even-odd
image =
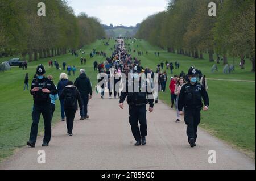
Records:
<instances>
[{"instance_id":1,"label":"row of trees along the left side of the avenue","mask_svg":"<svg viewBox=\"0 0 256 181\"><path fill-rule=\"evenodd\" d=\"M38 3L46 16L38 16ZM105 31L96 18L75 16L63 0L0 0L0 57L22 54L29 61L66 54L98 38ZM38 57L39 56L39 57Z\"/></svg>"}]
</instances>

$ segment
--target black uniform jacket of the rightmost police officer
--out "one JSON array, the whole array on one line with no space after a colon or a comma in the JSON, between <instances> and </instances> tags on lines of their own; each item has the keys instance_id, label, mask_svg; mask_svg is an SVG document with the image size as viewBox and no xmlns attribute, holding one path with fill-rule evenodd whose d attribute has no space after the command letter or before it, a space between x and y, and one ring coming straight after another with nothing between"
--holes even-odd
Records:
<instances>
[{"instance_id":1,"label":"black uniform jacket of the rightmost police officer","mask_svg":"<svg viewBox=\"0 0 256 181\"><path fill-rule=\"evenodd\" d=\"M190 82L186 83L180 90L178 108L182 111L183 107L187 108L202 108L202 98L204 105L209 106L209 97L204 86L199 82L192 85Z\"/></svg>"}]
</instances>

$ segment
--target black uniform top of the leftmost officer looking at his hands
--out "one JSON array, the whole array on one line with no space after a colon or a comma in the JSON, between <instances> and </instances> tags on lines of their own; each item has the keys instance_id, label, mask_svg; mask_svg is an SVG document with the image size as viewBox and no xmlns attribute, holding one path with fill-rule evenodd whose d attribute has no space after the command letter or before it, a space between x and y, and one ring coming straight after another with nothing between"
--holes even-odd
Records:
<instances>
[{"instance_id":1,"label":"black uniform top of the leftmost officer looking at his hands","mask_svg":"<svg viewBox=\"0 0 256 181\"><path fill-rule=\"evenodd\" d=\"M31 90L34 87L38 87L39 91L31 92ZM42 89L48 89L51 91L50 93L42 92ZM35 78L31 83L31 89L30 89L31 95L33 95L34 98L34 104L35 105L44 105L44 104L51 104L51 98L50 94L56 95L58 94L58 91L52 81L50 81L48 78L38 79Z\"/></svg>"}]
</instances>

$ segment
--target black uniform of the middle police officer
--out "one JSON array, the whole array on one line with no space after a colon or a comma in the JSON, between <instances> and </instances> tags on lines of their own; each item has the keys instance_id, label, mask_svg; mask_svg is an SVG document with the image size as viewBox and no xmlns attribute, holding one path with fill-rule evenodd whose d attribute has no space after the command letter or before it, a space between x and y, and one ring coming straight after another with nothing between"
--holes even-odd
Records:
<instances>
[{"instance_id":1,"label":"black uniform of the middle police officer","mask_svg":"<svg viewBox=\"0 0 256 181\"><path fill-rule=\"evenodd\" d=\"M129 122L131 125L131 131L135 140L137 141L137 145L140 145L141 138L142 141L146 141L145 137L147 136L147 119L146 119L146 104L150 104L150 107L154 107L154 99L149 99L148 95L152 96L152 92L147 91L143 92L142 90L142 82L139 81L139 92L135 92L134 89L134 81L133 83L133 92L128 92L128 87L131 86L131 83L127 81L126 92L122 91L120 96L120 103L123 103L127 96L127 103L129 105ZM136 90L136 89L135 89ZM138 126L138 121L140 124L140 128ZM144 142L146 144L146 142ZM136 144L135 144L136 145Z\"/></svg>"}]
</instances>

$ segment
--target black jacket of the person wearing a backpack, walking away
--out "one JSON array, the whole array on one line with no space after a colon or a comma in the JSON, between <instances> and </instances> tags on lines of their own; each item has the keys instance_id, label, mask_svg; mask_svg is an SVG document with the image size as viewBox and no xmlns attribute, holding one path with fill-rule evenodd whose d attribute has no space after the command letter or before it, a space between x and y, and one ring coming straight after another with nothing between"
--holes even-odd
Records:
<instances>
[{"instance_id":1,"label":"black jacket of the person wearing a backpack, walking away","mask_svg":"<svg viewBox=\"0 0 256 181\"><path fill-rule=\"evenodd\" d=\"M67 95L68 92L73 92L74 94L74 97L76 99L75 101L75 105L73 107L68 107L67 105L65 105L64 103L64 109L69 109L69 110L78 110L78 107L77 107L77 100L78 100L78 103L79 103L79 108L80 110L82 110L82 99L81 99L81 95L79 93L79 91L76 89L75 86L65 86L64 90L61 92L60 94L60 100L65 100L65 96Z\"/></svg>"}]
</instances>

